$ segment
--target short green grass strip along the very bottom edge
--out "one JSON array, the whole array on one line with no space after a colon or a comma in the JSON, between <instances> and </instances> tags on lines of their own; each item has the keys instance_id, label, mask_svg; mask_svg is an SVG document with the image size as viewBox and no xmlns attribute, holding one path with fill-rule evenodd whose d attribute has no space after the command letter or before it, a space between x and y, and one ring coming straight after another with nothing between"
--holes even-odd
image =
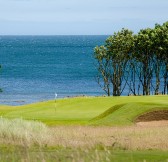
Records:
<instances>
[{"instance_id":1,"label":"short green grass strip along the very bottom edge","mask_svg":"<svg viewBox=\"0 0 168 162\"><path fill-rule=\"evenodd\" d=\"M25 149L0 150L1 162L167 162L168 152L97 149Z\"/></svg>"}]
</instances>

